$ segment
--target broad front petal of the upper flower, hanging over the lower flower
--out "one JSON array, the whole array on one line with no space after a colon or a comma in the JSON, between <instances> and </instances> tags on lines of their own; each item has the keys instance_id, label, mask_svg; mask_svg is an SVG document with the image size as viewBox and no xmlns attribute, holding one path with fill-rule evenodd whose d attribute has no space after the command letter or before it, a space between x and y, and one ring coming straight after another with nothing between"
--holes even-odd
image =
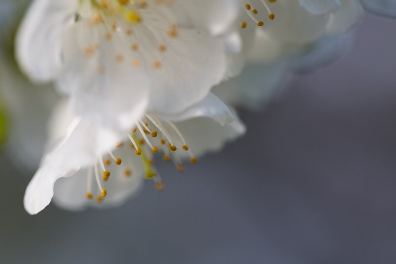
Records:
<instances>
[{"instance_id":1,"label":"broad front petal of the upper flower, hanging over the lower flower","mask_svg":"<svg viewBox=\"0 0 396 264\"><path fill-rule=\"evenodd\" d=\"M133 68L130 45L116 34L106 41L101 38L105 33L84 22L70 27L63 44L65 68L57 85L71 97L75 114L126 130L146 109L150 82L143 67ZM86 57L87 47L96 45L100 51Z\"/></svg>"}]
</instances>

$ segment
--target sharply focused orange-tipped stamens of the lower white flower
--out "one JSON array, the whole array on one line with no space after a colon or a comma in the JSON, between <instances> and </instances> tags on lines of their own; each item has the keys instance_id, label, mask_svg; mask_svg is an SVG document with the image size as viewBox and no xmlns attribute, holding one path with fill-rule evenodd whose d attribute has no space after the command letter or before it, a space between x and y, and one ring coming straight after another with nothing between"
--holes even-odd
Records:
<instances>
[{"instance_id":1,"label":"sharply focused orange-tipped stamens of the lower white flower","mask_svg":"<svg viewBox=\"0 0 396 264\"><path fill-rule=\"evenodd\" d=\"M139 119L136 122L135 128L131 131L131 133L127 134L128 142L119 143L116 146L116 149L120 149L126 145L129 145L130 148L134 150L134 155L141 158L142 164L145 168L146 179L153 180L155 188L158 191L162 191L164 190L165 185L153 166L154 154L161 151L163 153L163 161L169 162L173 160L176 165L176 169L179 172L184 172L185 167L181 156L177 153L178 147L174 142L174 139L177 139L181 143L181 149L190 157L190 162L192 164L197 163L197 158L195 158L181 131L174 123L167 120L160 120L159 118L156 118L150 114L146 114L145 119L146 120ZM172 134L176 135L176 138L172 137ZM151 139L149 139L149 137ZM100 157L97 164L88 170L86 195L88 199L94 198L92 193L92 182L94 181L94 175L99 189L97 201L101 202L107 195L107 191L103 187L103 184L110 179L111 175L110 170L108 170L106 167L111 164L111 159L115 165L122 165L122 159L116 157L111 150L108 150L108 155L109 158L103 159ZM102 170L101 178L99 169ZM123 174L125 177L131 177L133 176L133 169L125 168Z\"/></svg>"}]
</instances>

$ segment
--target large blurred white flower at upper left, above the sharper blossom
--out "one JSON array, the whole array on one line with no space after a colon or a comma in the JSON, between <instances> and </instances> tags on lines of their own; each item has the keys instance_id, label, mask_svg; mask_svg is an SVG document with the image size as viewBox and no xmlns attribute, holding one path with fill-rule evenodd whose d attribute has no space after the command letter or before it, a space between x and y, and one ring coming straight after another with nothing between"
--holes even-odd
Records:
<instances>
[{"instance_id":1,"label":"large blurred white flower at upper left, above the sharper blossom","mask_svg":"<svg viewBox=\"0 0 396 264\"><path fill-rule=\"evenodd\" d=\"M176 113L223 79L226 48L239 44L222 35L238 16L236 3L35 0L17 57L32 80L55 81L76 114L125 128L148 102L152 111Z\"/></svg>"}]
</instances>

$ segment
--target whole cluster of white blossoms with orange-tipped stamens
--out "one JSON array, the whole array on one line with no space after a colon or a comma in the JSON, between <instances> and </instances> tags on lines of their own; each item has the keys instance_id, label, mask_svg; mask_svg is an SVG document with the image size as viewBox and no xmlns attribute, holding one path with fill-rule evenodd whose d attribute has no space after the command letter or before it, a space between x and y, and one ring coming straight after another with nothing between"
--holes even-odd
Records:
<instances>
[{"instance_id":1,"label":"whole cluster of white blossoms with orange-tipped stamens","mask_svg":"<svg viewBox=\"0 0 396 264\"><path fill-rule=\"evenodd\" d=\"M262 105L287 71L333 57L362 13L359 0L34 0L15 56L63 98L26 211L119 204L145 179L163 190L158 155L184 171L242 136L230 105Z\"/></svg>"}]
</instances>

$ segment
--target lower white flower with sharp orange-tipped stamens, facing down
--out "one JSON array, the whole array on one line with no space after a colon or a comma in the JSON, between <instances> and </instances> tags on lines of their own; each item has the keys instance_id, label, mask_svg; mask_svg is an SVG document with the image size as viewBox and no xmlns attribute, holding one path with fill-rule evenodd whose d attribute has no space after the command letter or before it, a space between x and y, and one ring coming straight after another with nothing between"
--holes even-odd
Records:
<instances>
[{"instance_id":1,"label":"lower white flower with sharp orange-tipped stamens, facing down","mask_svg":"<svg viewBox=\"0 0 396 264\"><path fill-rule=\"evenodd\" d=\"M53 195L58 204L69 209L95 205L97 201L118 204L139 189L144 176L154 179L161 190L164 185L152 165L152 155L163 152L165 161L173 160L183 170L183 159L196 163L197 157L219 150L245 132L234 116L209 94L179 114L147 113L132 131L122 135L61 107L52 126L51 141L57 143L50 144L48 155L27 187L25 209L38 213ZM115 164L109 167L110 163ZM91 201L95 196L97 201Z\"/></svg>"}]
</instances>

